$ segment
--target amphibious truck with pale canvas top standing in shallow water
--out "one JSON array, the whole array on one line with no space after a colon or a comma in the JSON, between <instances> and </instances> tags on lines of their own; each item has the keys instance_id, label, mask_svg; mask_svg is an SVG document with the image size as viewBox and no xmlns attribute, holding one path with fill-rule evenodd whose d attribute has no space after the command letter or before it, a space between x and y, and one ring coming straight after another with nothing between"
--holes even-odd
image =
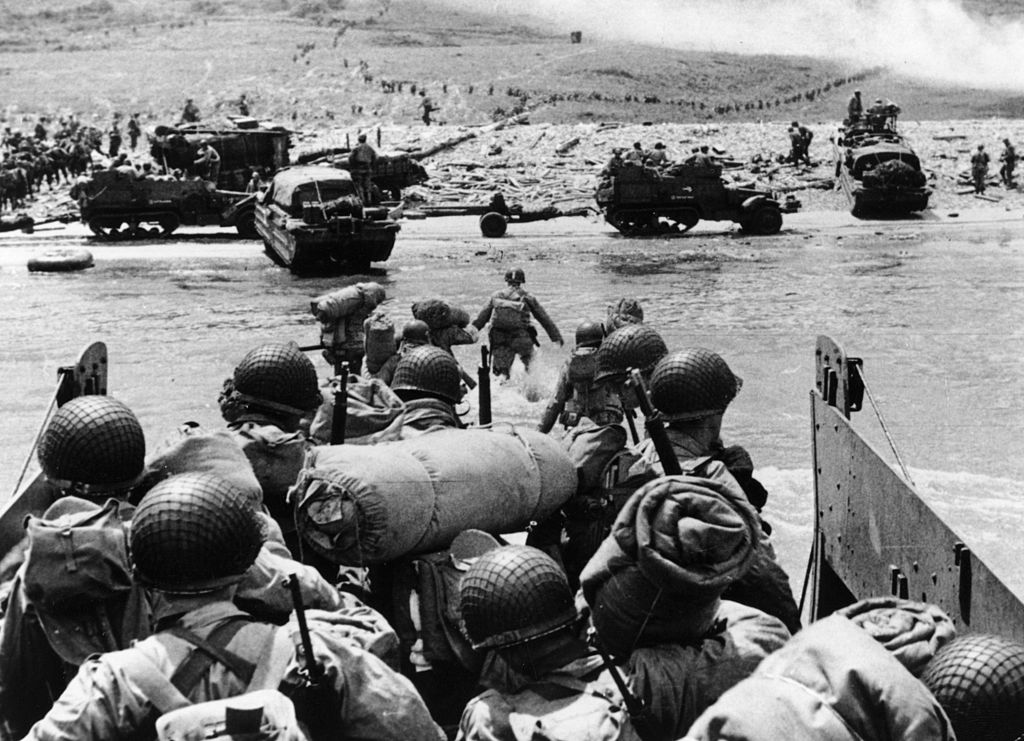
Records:
<instances>
[{"instance_id":1,"label":"amphibious truck with pale canvas top standing in shallow water","mask_svg":"<svg viewBox=\"0 0 1024 741\"><path fill-rule=\"evenodd\" d=\"M267 256L293 272L366 270L391 257L399 228L386 208L365 206L351 175L335 167L282 170L256 202Z\"/></svg>"}]
</instances>

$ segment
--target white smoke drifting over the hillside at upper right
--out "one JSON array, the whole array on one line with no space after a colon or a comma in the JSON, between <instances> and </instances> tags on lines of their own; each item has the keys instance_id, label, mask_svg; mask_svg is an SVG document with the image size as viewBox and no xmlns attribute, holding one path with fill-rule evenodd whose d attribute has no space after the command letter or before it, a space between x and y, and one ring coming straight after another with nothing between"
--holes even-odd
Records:
<instances>
[{"instance_id":1,"label":"white smoke drifting over the hillside at upper right","mask_svg":"<svg viewBox=\"0 0 1024 741\"><path fill-rule=\"evenodd\" d=\"M1024 23L958 0L439 0L532 15L585 38L738 54L806 55L907 77L1024 92Z\"/></svg>"}]
</instances>

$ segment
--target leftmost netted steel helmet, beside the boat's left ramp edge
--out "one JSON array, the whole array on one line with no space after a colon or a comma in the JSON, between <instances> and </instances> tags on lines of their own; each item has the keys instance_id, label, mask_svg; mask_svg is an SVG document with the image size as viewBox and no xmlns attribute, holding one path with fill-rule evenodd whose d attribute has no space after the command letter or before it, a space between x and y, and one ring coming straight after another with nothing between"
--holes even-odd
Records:
<instances>
[{"instance_id":1,"label":"leftmost netted steel helmet, beside the boat's left ramp edge","mask_svg":"<svg viewBox=\"0 0 1024 741\"><path fill-rule=\"evenodd\" d=\"M71 493L109 494L142 474L145 437L138 419L110 396L79 396L53 415L39 442L39 463Z\"/></svg>"}]
</instances>

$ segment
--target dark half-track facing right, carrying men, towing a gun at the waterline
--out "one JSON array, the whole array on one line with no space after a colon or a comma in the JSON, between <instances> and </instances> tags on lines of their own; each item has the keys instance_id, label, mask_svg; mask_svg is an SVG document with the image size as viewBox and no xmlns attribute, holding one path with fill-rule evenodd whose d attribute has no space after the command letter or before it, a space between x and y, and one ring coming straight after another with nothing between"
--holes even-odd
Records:
<instances>
[{"instance_id":1,"label":"dark half-track facing right, carrying men, towing a gun at the waterline","mask_svg":"<svg viewBox=\"0 0 1024 741\"><path fill-rule=\"evenodd\" d=\"M782 228L782 212L795 202L780 204L775 193L726 184L721 167L676 165L665 173L626 165L602 175L597 206L604 219L624 234L666 234L688 231L700 219L735 221L744 231L774 234Z\"/></svg>"}]
</instances>

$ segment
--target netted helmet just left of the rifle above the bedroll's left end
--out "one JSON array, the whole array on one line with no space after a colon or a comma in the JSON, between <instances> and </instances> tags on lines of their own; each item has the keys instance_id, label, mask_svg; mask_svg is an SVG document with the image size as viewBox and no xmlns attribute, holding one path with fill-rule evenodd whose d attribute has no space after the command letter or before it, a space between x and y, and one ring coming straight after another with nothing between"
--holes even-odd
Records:
<instances>
[{"instance_id":1,"label":"netted helmet just left of the rifle above the bedroll's left end","mask_svg":"<svg viewBox=\"0 0 1024 741\"><path fill-rule=\"evenodd\" d=\"M268 411L302 417L324 400L312 361L293 342L250 350L234 368L233 381L239 401Z\"/></svg>"}]
</instances>

